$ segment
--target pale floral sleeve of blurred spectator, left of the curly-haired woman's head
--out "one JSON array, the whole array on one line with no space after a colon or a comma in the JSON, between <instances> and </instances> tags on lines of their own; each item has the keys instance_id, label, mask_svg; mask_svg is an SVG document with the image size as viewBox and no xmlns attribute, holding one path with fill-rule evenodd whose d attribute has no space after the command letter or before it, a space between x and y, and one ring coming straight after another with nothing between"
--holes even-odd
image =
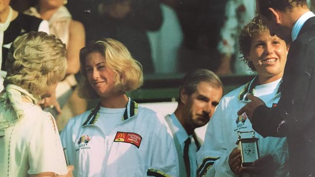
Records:
<instances>
[{"instance_id":1,"label":"pale floral sleeve of blurred spectator, left of the curly-haired woman's head","mask_svg":"<svg viewBox=\"0 0 315 177\"><path fill-rule=\"evenodd\" d=\"M218 50L227 56L235 53L235 36L237 35L236 0L228 0L225 6L225 21L220 30L221 40L218 43Z\"/></svg>"}]
</instances>

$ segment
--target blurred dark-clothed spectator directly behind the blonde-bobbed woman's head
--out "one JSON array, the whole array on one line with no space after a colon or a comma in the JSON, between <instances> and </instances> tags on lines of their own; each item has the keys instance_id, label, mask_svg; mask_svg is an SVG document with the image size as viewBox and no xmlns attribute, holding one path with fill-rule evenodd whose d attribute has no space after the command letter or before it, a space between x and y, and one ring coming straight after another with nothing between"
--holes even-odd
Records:
<instances>
[{"instance_id":1,"label":"blurred dark-clothed spectator directly behind the blonde-bobbed woman's head","mask_svg":"<svg viewBox=\"0 0 315 177\"><path fill-rule=\"evenodd\" d=\"M90 16L87 42L104 37L126 45L143 66L144 74L155 72L146 31L160 28L163 18L158 0L101 0L99 12Z\"/></svg>"}]
</instances>

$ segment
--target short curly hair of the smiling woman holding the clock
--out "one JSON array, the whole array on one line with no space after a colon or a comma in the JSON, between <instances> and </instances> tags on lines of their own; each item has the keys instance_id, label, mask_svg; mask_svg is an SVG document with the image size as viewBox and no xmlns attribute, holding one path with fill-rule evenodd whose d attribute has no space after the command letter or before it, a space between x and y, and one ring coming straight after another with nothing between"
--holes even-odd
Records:
<instances>
[{"instance_id":1,"label":"short curly hair of the smiling woman holding the clock","mask_svg":"<svg viewBox=\"0 0 315 177\"><path fill-rule=\"evenodd\" d=\"M238 43L239 51L242 54L241 59L243 59L252 71L256 71L252 61L248 59L251 51L252 36L258 32L268 30L268 26L258 16L255 16L240 32Z\"/></svg>"}]
</instances>

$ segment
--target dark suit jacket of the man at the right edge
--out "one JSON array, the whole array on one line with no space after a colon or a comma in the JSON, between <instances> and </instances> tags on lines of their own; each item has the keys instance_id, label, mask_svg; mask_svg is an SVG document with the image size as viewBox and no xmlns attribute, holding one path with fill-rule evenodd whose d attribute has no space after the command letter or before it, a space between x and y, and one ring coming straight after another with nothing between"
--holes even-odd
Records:
<instances>
[{"instance_id":1,"label":"dark suit jacket of the man at the right edge","mask_svg":"<svg viewBox=\"0 0 315 177\"><path fill-rule=\"evenodd\" d=\"M290 177L315 176L315 17L290 46L277 107L257 107L252 127L263 136L287 137Z\"/></svg>"}]
</instances>

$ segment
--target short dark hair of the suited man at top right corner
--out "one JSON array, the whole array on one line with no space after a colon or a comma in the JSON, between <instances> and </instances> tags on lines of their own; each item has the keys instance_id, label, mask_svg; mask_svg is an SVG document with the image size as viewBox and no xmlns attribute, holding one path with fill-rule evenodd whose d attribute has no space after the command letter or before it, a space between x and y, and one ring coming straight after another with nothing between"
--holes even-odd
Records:
<instances>
[{"instance_id":1,"label":"short dark hair of the suited man at top right corner","mask_svg":"<svg viewBox=\"0 0 315 177\"><path fill-rule=\"evenodd\" d=\"M257 0L259 4L259 13L266 18L271 18L271 13L268 8L273 8L280 11L290 11L294 7L307 6L306 0Z\"/></svg>"}]
</instances>

